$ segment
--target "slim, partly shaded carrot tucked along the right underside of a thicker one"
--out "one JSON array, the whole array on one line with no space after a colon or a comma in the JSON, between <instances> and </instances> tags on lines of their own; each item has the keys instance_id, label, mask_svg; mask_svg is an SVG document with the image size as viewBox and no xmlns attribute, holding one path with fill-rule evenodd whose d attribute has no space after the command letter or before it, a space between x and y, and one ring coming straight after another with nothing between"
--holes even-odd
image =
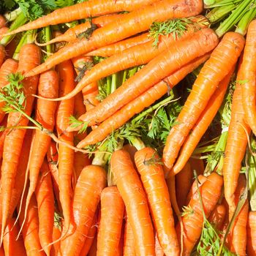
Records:
<instances>
[{"instance_id":1,"label":"slim, partly shaded carrot tucked along the right underside of a thicker one","mask_svg":"<svg viewBox=\"0 0 256 256\"><path fill-rule=\"evenodd\" d=\"M233 69L231 69L225 78L219 83L216 91L208 101L206 108L203 110L200 117L197 119L195 126L192 128L192 131L189 133L189 136L184 141L178 159L173 166L173 173L179 173L186 165L186 162L189 160L189 157L192 156L193 151L211 124L214 116L216 116L220 106L222 105L234 68L235 67L233 67Z\"/></svg>"}]
</instances>

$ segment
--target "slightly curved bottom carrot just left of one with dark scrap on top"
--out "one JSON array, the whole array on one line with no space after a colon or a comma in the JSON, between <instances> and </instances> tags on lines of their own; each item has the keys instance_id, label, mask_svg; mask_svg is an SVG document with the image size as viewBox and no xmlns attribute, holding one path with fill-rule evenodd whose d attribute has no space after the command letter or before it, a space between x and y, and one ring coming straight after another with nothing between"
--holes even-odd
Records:
<instances>
[{"instance_id":1,"label":"slightly curved bottom carrot just left of one with dark scrap on top","mask_svg":"<svg viewBox=\"0 0 256 256\"><path fill-rule=\"evenodd\" d=\"M147 197L129 153L124 150L115 151L110 160L110 167L132 226L136 255L154 255L154 230Z\"/></svg>"}]
</instances>

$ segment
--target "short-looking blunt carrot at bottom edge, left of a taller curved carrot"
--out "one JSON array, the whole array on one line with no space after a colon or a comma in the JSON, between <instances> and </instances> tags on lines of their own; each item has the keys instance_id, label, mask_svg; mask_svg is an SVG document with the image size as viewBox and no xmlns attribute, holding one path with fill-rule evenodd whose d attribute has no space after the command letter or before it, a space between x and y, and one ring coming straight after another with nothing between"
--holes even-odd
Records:
<instances>
[{"instance_id":1,"label":"short-looking blunt carrot at bottom edge, left of a taller curved carrot","mask_svg":"<svg viewBox=\"0 0 256 256\"><path fill-rule=\"evenodd\" d=\"M97 238L97 255L116 255L121 238L124 201L116 187L106 187L100 196L101 218Z\"/></svg>"}]
</instances>

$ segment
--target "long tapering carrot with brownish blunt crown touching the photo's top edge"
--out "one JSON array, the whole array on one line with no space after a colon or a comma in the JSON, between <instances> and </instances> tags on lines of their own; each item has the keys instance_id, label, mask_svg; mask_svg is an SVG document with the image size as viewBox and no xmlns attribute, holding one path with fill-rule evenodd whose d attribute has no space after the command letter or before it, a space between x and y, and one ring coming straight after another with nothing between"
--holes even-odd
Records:
<instances>
[{"instance_id":1,"label":"long tapering carrot with brownish blunt crown touching the photo's top edge","mask_svg":"<svg viewBox=\"0 0 256 256\"><path fill-rule=\"evenodd\" d=\"M45 63L37 69L32 69L26 74L31 76L39 74L61 61L72 59L83 53L89 53L113 42L121 41L140 32L146 31L154 21L163 21L171 18L190 17L197 15L202 11L202 1L200 0L160 0L141 9L129 12L118 20L97 29L89 40L82 39L80 42L74 42L59 50L59 52L50 56ZM175 12L174 12L175 10ZM121 24L121 26L120 26ZM138 26L140 24L140 26ZM30 29L30 28L29 28ZM63 54L65 53L65 54Z\"/></svg>"}]
</instances>

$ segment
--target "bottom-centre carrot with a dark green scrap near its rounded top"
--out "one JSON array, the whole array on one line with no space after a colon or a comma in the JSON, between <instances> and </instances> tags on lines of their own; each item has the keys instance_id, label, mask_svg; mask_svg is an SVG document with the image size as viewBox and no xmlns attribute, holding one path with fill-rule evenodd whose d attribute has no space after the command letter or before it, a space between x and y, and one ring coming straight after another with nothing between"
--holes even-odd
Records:
<instances>
[{"instance_id":1,"label":"bottom-centre carrot with a dark green scrap near its rounded top","mask_svg":"<svg viewBox=\"0 0 256 256\"><path fill-rule=\"evenodd\" d=\"M179 255L178 239L173 221L173 210L165 183L159 156L153 148L143 148L135 153L135 164L140 173L157 237L166 256ZM152 161L147 163L147 161Z\"/></svg>"}]
</instances>

